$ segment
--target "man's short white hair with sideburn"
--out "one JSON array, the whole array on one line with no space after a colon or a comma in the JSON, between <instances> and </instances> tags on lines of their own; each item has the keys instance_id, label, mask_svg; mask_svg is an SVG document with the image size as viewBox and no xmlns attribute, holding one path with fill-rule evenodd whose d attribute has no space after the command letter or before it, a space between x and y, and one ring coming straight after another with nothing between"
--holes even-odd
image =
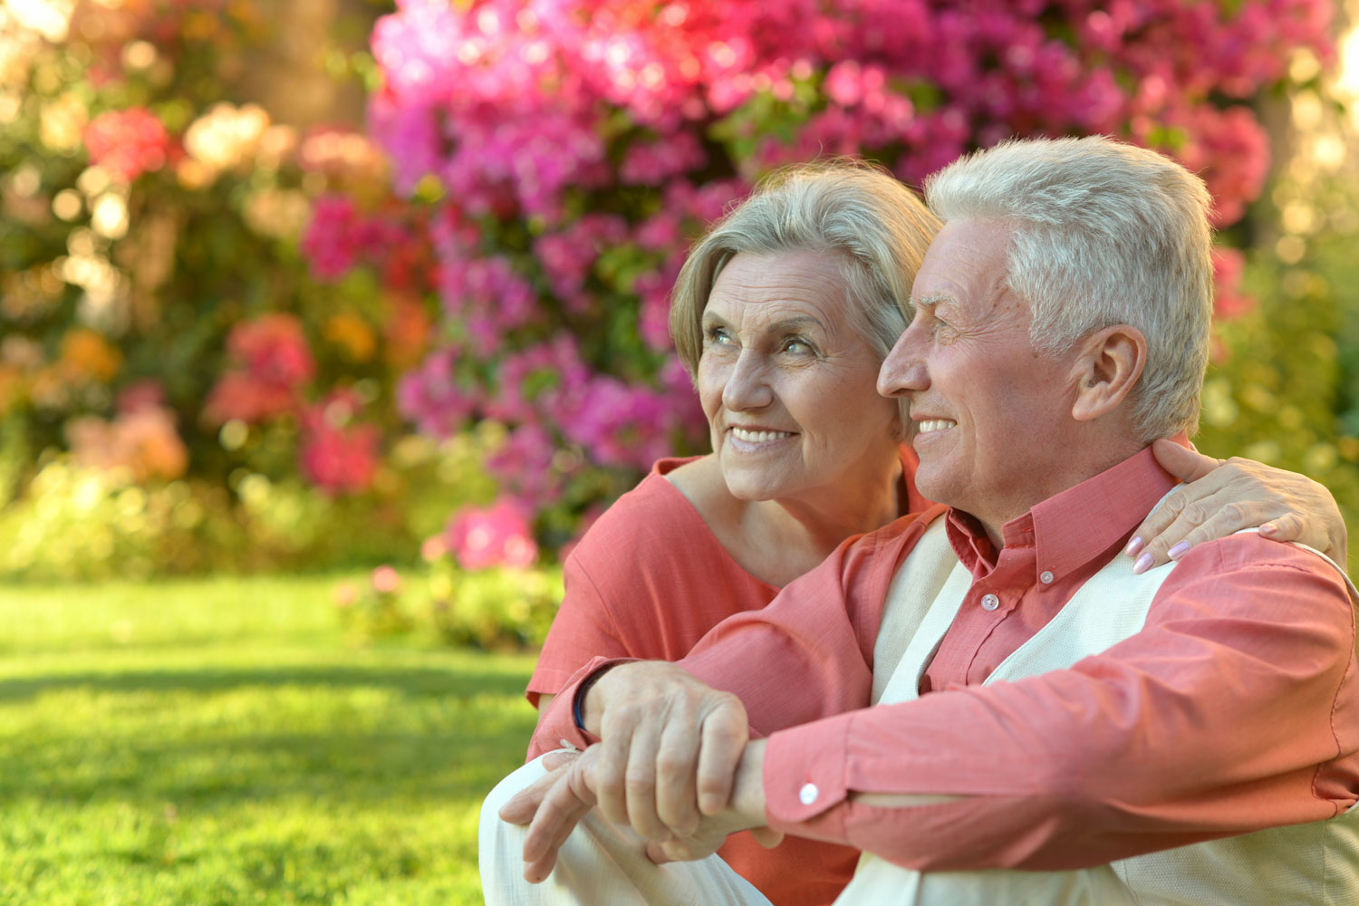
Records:
<instances>
[{"instance_id":1,"label":"man's short white hair with sideburn","mask_svg":"<svg viewBox=\"0 0 1359 906\"><path fill-rule=\"evenodd\" d=\"M1102 136L1011 140L925 181L945 223L1014 230L1006 285L1029 303L1048 353L1112 325L1147 338L1129 398L1139 440L1199 424L1212 318L1212 198L1203 179L1146 148Z\"/></svg>"}]
</instances>

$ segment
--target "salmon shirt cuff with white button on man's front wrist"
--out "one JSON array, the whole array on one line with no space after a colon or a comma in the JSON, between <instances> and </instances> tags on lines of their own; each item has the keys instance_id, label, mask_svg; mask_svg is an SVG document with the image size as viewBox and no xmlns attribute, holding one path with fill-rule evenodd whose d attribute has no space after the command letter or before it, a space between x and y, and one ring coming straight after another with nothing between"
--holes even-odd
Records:
<instances>
[{"instance_id":1,"label":"salmon shirt cuff with white button on man's front wrist","mask_svg":"<svg viewBox=\"0 0 1359 906\"><path fill-rule=\"evenodd\" d=\"M837 714L769 736L764 754L765 818L786 834L845 841L849 719Z\"/></svg>"}]
</instances>

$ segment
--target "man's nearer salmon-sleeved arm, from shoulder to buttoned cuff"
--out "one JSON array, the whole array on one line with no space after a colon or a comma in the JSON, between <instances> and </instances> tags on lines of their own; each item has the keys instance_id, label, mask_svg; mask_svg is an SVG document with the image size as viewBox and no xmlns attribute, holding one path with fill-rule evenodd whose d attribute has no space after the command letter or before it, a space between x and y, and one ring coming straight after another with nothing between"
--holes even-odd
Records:
<instances>
[{"instance_id":1,"label":"man's nearer salmon-sleeved arm, from shoulder to buttoned cuff","mask_svg":"<svg viewBox=\"0 0 1359 906\"><path fill-rule=\"evenodd\" d=\"M1094 865L1335 816L1359 791L1356 705L1339 575L1239 537L1070 670L772 735L768 815L917 869Z\"/></svg>"}]
</instances>

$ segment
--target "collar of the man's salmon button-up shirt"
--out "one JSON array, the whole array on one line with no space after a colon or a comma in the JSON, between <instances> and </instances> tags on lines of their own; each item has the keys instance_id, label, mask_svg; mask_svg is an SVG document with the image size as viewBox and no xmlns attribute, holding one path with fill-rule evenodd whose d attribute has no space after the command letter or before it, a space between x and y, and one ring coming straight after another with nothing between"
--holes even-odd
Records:
<instances>
[{"instance_id":1,"label":"collar of the man's salmon button-up shirt","mask_svg":"<svg viewBox=\"0 0 1359 906\"><path fill-rule=\"evenodd\" d=\"M1011 519L1002 534L1007 547L1033 546L1036 568L1061 577L1131 535L1176 484L1147 447ZM949 539L973 572L978 557L995 560L985 532L968 513L950 511Z\"/></svg>"}]
</instances>

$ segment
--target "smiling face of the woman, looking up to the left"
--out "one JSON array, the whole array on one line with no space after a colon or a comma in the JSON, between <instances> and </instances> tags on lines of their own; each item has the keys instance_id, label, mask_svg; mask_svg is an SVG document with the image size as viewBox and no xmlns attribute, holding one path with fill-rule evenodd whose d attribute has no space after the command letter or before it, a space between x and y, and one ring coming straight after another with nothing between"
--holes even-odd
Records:
<instances>
[{"instance_id":1,"label":"smiling face of the woman, looking up to the left","mask_svg":"<svg viewBox=\"0 0 1359 906\"><path fill-rule=\"evenodd\" d=\"M741 500L882 486L897 456L897 402L853 327L833 254L738 254L703 312L699 397L727 488Z\"/></svg>"}]
</instances>

